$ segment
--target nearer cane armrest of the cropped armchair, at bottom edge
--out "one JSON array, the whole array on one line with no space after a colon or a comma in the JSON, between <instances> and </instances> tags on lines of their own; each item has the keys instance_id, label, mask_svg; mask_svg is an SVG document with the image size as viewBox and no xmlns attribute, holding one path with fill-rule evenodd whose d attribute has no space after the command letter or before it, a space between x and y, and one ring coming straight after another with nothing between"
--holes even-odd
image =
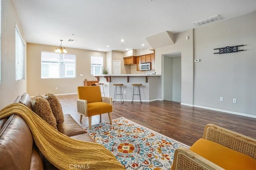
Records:
<instances>
[{"instance_id":1,"label":"nearer cane armrest of the cropped armchair, at bottom edge","mask_svg":"<svg viewBox=\"0 0 256 170\"><path fill-rule=\"evenodd\" d=\"M206 158L184 147L179 147L174 152L172 170L224 170L220 166L210 162Z\"/></svg>"}]
</instances>

